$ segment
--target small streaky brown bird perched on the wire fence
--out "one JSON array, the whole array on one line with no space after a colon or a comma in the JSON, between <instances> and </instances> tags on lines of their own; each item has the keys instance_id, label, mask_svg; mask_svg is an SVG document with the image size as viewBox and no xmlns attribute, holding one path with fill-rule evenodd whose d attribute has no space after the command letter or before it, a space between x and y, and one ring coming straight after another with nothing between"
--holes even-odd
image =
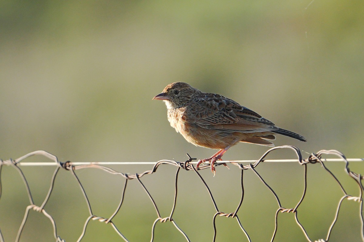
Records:
<instances>
[{"instance_id":1,"label":"small streaky brown bird perched on the wire fence","mask_svg":"<svg viewBox=\"0 0 364 242\"><path fill-rule=\"evenodd\" d=\"M215 161L238 142L274 146L275 134L307 141L303 136L278 128L249 108L215 93L204 93L185 82L174 82L153 99L163 100L168 121L187 141L194 145L219 149L213 156L198 160L210 162L215 174Z\"/></svg>"}]
</instances>

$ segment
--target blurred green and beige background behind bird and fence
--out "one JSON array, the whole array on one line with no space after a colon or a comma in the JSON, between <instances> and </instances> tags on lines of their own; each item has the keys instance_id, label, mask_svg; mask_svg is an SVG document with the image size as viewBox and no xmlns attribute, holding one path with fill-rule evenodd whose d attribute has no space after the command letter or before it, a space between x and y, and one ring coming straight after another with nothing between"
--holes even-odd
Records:
<instances>
[{"instance_id":1,"label":"blurred green and beige background behind bird and fence","mask_svg":"<svg viewBox=\"0 0 364 242\"><path fill-rule=\"evenodd\" d=\"M279 136L305 157L338 149L363 157L363 1L0 1L0 158L46 150L60 161L185 161L214 151L195 147L170 127L165 105L151 99L175 81L225 95L277 126L308 139ZM238 144L225 160L258 159L267 147ZM268 158L295 158L276 151ZM40 157L29 161L46 161ZM150 165L112 167L141 173ZM343 163L329 168L354 196ZM363 173L361 163L353 171ZM47 194L54 168L23 167L35 204ZM164 165L142 181L169 216L176 168ZM258 171L293 208L303 167L262 164ZM343 195L320 165L308 169L299 218L311 239L324 238ZM124 180L99 170L77 171L93 212L109 217ZM223 212L240 200L240 170L201 171ZM270 241L278 208L272 193L245 172L238 215L253 241ZM0 229L14 241L27 195L17 171L4 167ZM191 241L211 241L215 213L196 174L181 171L174 220ZM76 241L88 217L71 173L60 171L46 210L58 234ZM361 241L359 204L344 201L330 241ZM138 181L129 182L115 225L130 241L149 241L157 218ZM275 241L305 241L293 214L280 214ZM217 218L217 241L247 241L235 220ZM20 241L54 241L52 225L31 211ZM91 222L83 241L120 241L111 226ZM171 223L158 223L155 241L185 241Z\"/></svg>"}]
</instances>

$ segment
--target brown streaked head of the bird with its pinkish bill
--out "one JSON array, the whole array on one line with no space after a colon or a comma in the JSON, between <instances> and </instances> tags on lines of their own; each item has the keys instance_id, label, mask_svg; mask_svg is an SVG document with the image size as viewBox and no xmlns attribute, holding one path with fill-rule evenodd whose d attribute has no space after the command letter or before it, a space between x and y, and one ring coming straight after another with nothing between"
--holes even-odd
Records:
<instances>
[{"instance_id":1,"label":"brown streaked head of the bird with its pinkish bill","mask_svg":"<svg viewBox=\"0 0 364 242\"><path fill-rule=\"evenodd\" d=\"M179 108L187 106L194 95L201 93L200 90L191 87L185 82L174 82L165 87L161 94L153 99L163 100L167 108Z\"/></svg>"}]
</instances>

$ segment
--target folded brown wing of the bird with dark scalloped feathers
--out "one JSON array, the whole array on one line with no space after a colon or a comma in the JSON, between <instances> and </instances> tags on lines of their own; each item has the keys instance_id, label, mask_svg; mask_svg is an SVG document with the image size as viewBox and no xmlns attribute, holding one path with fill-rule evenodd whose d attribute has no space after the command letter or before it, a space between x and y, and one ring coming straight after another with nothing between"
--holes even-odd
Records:
<instances>
[{"instance_id":1,"label":"folded brown wing of the bird with dark scalloped feathers","mask_svg":"<svg viewBox=\"0 0 364 242\"><path fill-rule=\"evenodd\" d=\"M202 128L244 133L278 129L268 119L218 94L205 93L205 96L191 104L186 112L183 117L186 122Z\"/></svg>"}]
</instances>

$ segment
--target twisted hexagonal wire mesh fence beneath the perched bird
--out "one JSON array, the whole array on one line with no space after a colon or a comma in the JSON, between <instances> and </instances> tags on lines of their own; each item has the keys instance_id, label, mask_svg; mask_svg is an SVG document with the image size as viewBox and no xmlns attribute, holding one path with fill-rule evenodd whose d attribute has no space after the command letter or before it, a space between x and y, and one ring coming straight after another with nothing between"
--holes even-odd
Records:
<instances>
[{"instance_id":1,"label":"twisted hexagonal wire mesh fence beneath the perched bird","mask_svg":"<svg viewBox=\"0 0 364 242\"><path fill-rule=\"evenodd\" d=\"M275 149L290 149L292 151L294 151L294 153L297 155L297 159L294 160L265 160L264 158L273 150ZM48 159L52 160L52 162L42 162L42 163L23 163L22 161L24 161L25 159L27 159L28 157L31 156L35 156L35 155L41 155L41 156L45 156ZM188 154L187 154L188 155ZM322 156L323 155L335 155L337 156L337 159L324 159ZM189 155L188 155L189 156ZM313 242L313 240L310 238L310 235L307 233L305 227L302 225L302 223L300 222L300 220L298 219L298 210L299 210L299 206L302 203L302 201L305 198L306 195L306 190L307 190L307 166L311 165L311 164L315 164L315 163L319 163L321 165L321 167L329 173L330 176L333 177L333 180L340 186L341 192L343 193L343 196L340 198L338 204L337 204L337 209L336 209L336 213L335 216L332 220L331 225L328 227L327 229L327 236L325 238L320 238L320 239L316 239L314 240L315 242L328 242L331 234L332 234L332 230L333 227L335 226L335 223L337 222L338 219L338 215L340 212L340 208L341 208L341 204L343 203L344 200L348 200L348 201L353 201L353 202L359 202L359 217L360 217L360 236L361 236L361 240L364 241L364 219L363 219L363 191L364 191L364 187L362 184L362 180L363 180L363 176L360 174L357 174L355 172L352 172L349 169L349 162L352 161L364 161L364 159L347 159L343 153L336 151L336 150L321 150L317 153L312 153L307 159L303 159L302 158L302 154L300 152L300 150L296 147L293 146L289 146L289 145L284 145L284 146L279 146L279 147L274 147L269 149L268 151L266 151L264 153L264 155L262 155L262 157L260 157L260 159L258 160L254 160L254 161L221 161L215 164L215 166L219 166L219 165L223 165L225 163L231 163L234 165L234 167L236 167L237 169L241 169L241 199L240 202L237 205L237 208L234 212L231 213L225 213L222 212L221 210L218 209L217 203L215 202L214 196L209 188L209 186L207 185L206 181L203 179L203 177L199 174L199 171L202 169L209 169L210 165L206 164L206 165L202 165L200 166L198 169L195 168L196 162L194 161L195 158L191 158L189 156L189 160L185 161L185 162L177 162L177 161L173 161L173 160L160 160L156 163L74 163L74 162L70 162L70 161L66 161L66 162L61 162L57 159L57 157L55 155L52 155L51 153L48 153L46 151L34 151L31 153L28 153L27 155L21 156L16 160L0 160L0 199L1 199L1 192L2 192L2 186L1 186L1 175L3 172L3 166L7 165L7 166L11 166L13 168L15 168L18 172L19 175L21 177L21 179L24 182L25 185L25 189L27 190L28 193L28 199L29 199L29 205L27 206L26 210L25 210L25 214L24 214L24 218L23 221L19 227L19 230L17 232L17 236L15 241L18 242L20 240L20 236L22 234L22 231L24 229L25 224L27 223L27 219L29 216L29 212L30 210L35 210L36 212L42 213L44 216L46 216L50 222L52 223L53 226L53 234L54 234L54 238L56 242L64 242L65 240L62 239L60 237L60 235L57 232L57 227L56 227L56 222L54 220L54 218L51 216L51 214L47 213L46 210L44 209L44 207L46 206L47 202L50 200L50 197L52 196L52 191L54 189L54 184L55 184L55 180L57 178L57 174L60 171L60 169L65 169L68 172L71 172L72 175L74 176L74 178L76 179L80 190L82 191L83 197L86 200L86 204L87 204L87 209L88 209L88 213L89 216L86 219L84 226L83 226L83 231L80 233L80 236L78 238L78 242L82 240L82 238L85 235L86 232L86 228L88 226L88 223L91 220L97 220L99 222L103 222L106 224L109 224L114 230L115 232L124 240L124 241L129 241L126 236L124 236L124 234L122 233L122 228L118 228L116 227L116 225L112 222L112 219L116 216L116 214L119 212L121 206L123 205L123 201L124 201L124 195L125 195L125 191L127 188L127 184L128 184L128 180L132 180L132 179L136 179L139 184L142 186L143 190L146 192L147 196L150 198L151 203L153 204L154 208L155 208L155 213L157 214L157 218L155 219L154 223L151 225L151 239L150 241L154 241L155 238L155 226L157 224L157 222L171 222L173 223L173 225L175 226L175 228L183 235L183 237L186 239L186 241L190 241L189 236L187 235L187 233L182 230L181 227L179 227L177 225L177 222L173 219L173 214L175 212L175 208L176 208L176 203L177 203L177 195L178 195L178 174L179 172L182 170L184 171L191 171L194 172L199 180L201 180L201 182L203 183L203 185L206 187L207 192L209 193L209 196L211 198L211 201L214 205L214 208L216 210L216 213L214 214L212 220L213 220L213 228L214 228L214 235L213 235L213 241L216 240L216 234L217 234L217 228L216 228L216 224L215 224L215 220L217 216L225 216L228 218L235 218L238 225L240 226L240 229L244 232L245 237L246 237L246 241L251 242L252 240L250 239L249 236L249 231L247 231L244 228L244 225L241 223L239 217L238 217L238 212L240 211L242 202L244 200L244 171L246 172L253 172L262 182L263 184L266 186L266 188L268 188L270 190L270 192L272 192L274 198L277 201L277 211L275 213L275 226L274 226L274 231L271 237L271 242L274 241L276 234L277 234L277 229L278 229L278 216L280 213L293 213L294 214L294 218L296 220L297 226L302 230L302 233L304 234L305 238L307 241ZM281 201L280 198L278 197L277 193L272 189L272 187L264 180L264 178L260 175L260 173L257 172L256 167L260 164L266 163L266 162L277 162L277 161L284 161L284 162L298 162L304 169L304 189L302 191L302 196L300 197L299 201L297 202L296 206L294 206L294 208L284 208L281 205ZM345 163L345 173L351 177L353 179L353 181L355 181L355 183L357 184L358 188L359 188L359 193L356 196L352 196L350 194L348 194L346 192L346 190L344 189L344 186L342 185L342 183L339 181L339 179L337 179L337 177L333 174L332 171L330 171L327 166L325 165L326 162L328 161L343 161ZM243 163L248 163L247 165L243 165ZM151 169L150 171L145 171L142 173L136 173L136 174L127 174L127 173L122 173L119 171L116 171L115 169L112 169L110 167L107 167L106 165L111 165L111 164L154 164L153 165L153 169ZM170 215L168 217L162 217L161 213L158 210L158 206L157 203L155 202L155 200L153 199L153 197L151 196L151 193L149 192L149 190L146 188L146 186L143 184L142 182L142 177L146 176L146 175L151 175L153 173L155 173L158 169L158 167L162 164L167 164L167 165L172 165L175 166L177 168L177 171L175 173L175 192L174 192L174 202L173 202L173 206L170 212ZM53 173L53 176L51 178L50 181L50 188L48 190L47 196L44 199L43 203L39 206L36 205L33 201L33 197L32 197L32 193L31 190L29 188L29 184L27 181L27 178L25 177L22 169L20 168L21 166L26 166L26 165L31 165L31 166L36 166L36 165L56 165L56 169ZM91 209L91 204L90 201L87 197L87 194L85 192L84 186L82 185L82 182L80 181L79 177L76 175L76 171L81 170L81 169L87 169L87 168L97 168L97 169L101 169L104 172L110 173L111 175L118 175L118 176L122 176L123 179L125 179L125 183L124 186L122 188L122 196L120 198L119 204L115 209L115 212L108 218L104 218L104 217L99 217L97 215L95 215L92 212ZM1 228L0 228L0 242L4 242L4 237L3 234L1 233Z\"/></svg>"}]
</instances>

